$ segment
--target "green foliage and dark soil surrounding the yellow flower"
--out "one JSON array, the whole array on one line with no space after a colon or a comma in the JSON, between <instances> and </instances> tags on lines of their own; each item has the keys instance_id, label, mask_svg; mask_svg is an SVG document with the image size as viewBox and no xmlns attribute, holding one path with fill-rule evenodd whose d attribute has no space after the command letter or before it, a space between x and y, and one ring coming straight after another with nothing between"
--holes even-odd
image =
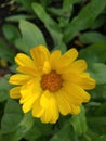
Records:
<instances>
[{"instance_id":1,"label":"green foliage and dark soil surrounding the yellow flower","mask_svg":"<svg viewBox=\"0 0 106 141\"><path fill-rule=\"evenodd\" d=\"M0 141L106 141L106 0L0 0ZM23 114L9 98L17 52L75 47L96 80L91 101L55 125Z\"/></svg>"}]
</instances>

